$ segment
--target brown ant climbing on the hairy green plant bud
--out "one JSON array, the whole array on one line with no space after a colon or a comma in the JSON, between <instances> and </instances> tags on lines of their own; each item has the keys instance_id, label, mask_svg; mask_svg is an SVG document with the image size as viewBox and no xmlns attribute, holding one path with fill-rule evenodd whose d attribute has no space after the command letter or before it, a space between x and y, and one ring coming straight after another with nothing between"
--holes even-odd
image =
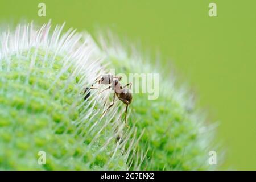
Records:
<instances>
[{"instance_id":1,"label":"brown ant climbing on the hairy green plant bud","mask_svg":"<svg viewBox=\"0 0 256 182\"><path fill-rule=\"evenodd\" d=\"M117 98L119 100L121 100L123 102L123 104L126 105L125 124L126 124L127 127L129 127L127 125L127 122L126 122L126 115L127 115L128 106L129 106L129 104L131 104L131 101L133 100L133 95L130 92L132 84L130 82L129 84L126 84L126 85L122 86L121 83L120 83L121 80L122 80L121 76L113 76L112 74L102 75L102 76L96 78L96 80L93 82L90 89L98 89L99 88L99 87L93 87L93 85L96 82L98 82L98 85L112 84L112 85L108 86L106 89L101 91L101 92L104 92L105 90L108 90L108 89L112 89L114 91L113 102L112 102L112 104L109 105L108 109L106 109L104 111L104 113L102 113L102 115L104 115L106 113L106 111L108 111L110 109L110 107L112 107L114 105L115 96L117 96ZM129 86L129 89L127 88L127 86ZM98 92L98 93L101 93L101 92Z\"/></svg>"}]
</instances>

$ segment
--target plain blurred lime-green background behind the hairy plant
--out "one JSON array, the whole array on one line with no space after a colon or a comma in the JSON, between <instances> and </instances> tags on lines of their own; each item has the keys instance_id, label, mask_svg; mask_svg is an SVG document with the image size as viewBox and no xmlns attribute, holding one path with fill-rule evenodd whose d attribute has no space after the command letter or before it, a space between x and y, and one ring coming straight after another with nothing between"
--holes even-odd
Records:
<instances>
[{"instance_id":1,"label":"plain blurred lime-green background behind the hairy plant","mask_svg":"<svg viewBox=\"0 0 256 182\"><path fill-rule=\"evenodd\" d=\"M38 16L40 2L46 18ZM210 2L217 4L217 17L208 15ZM49 19L91 33L110 28L151 56L159 51L162 64L171 62L179 82L192 86L208 119L220 121L216 142L226 160L218 169L256 169L255 0L0 2L0 23Z\"/></svg>"}]
</instances>

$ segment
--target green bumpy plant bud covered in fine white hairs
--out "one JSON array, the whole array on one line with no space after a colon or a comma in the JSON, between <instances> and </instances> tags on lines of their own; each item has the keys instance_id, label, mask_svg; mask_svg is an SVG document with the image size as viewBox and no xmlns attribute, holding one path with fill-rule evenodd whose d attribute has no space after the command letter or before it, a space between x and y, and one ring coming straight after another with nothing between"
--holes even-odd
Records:
<instances>
[{"instance_id":1,"label":"green bumpy plant bud covered in fine white hairs","mask_svg":"<svg viewBox=\"0 0 256 182\"><path fill-rule=\"evenodd\" d=\"M211 127L163 68L109 36L97 44L62 30L24 24L1 34L0 169L210 169ZM92 90L84 100L85 88L110 69L138 73L134 82L140 73L159 73L156 100L133 94L130 129L121 101L101 117L112 93ZM39 151L46 164L38 163Z\"/></svg>"}]
</instances>

